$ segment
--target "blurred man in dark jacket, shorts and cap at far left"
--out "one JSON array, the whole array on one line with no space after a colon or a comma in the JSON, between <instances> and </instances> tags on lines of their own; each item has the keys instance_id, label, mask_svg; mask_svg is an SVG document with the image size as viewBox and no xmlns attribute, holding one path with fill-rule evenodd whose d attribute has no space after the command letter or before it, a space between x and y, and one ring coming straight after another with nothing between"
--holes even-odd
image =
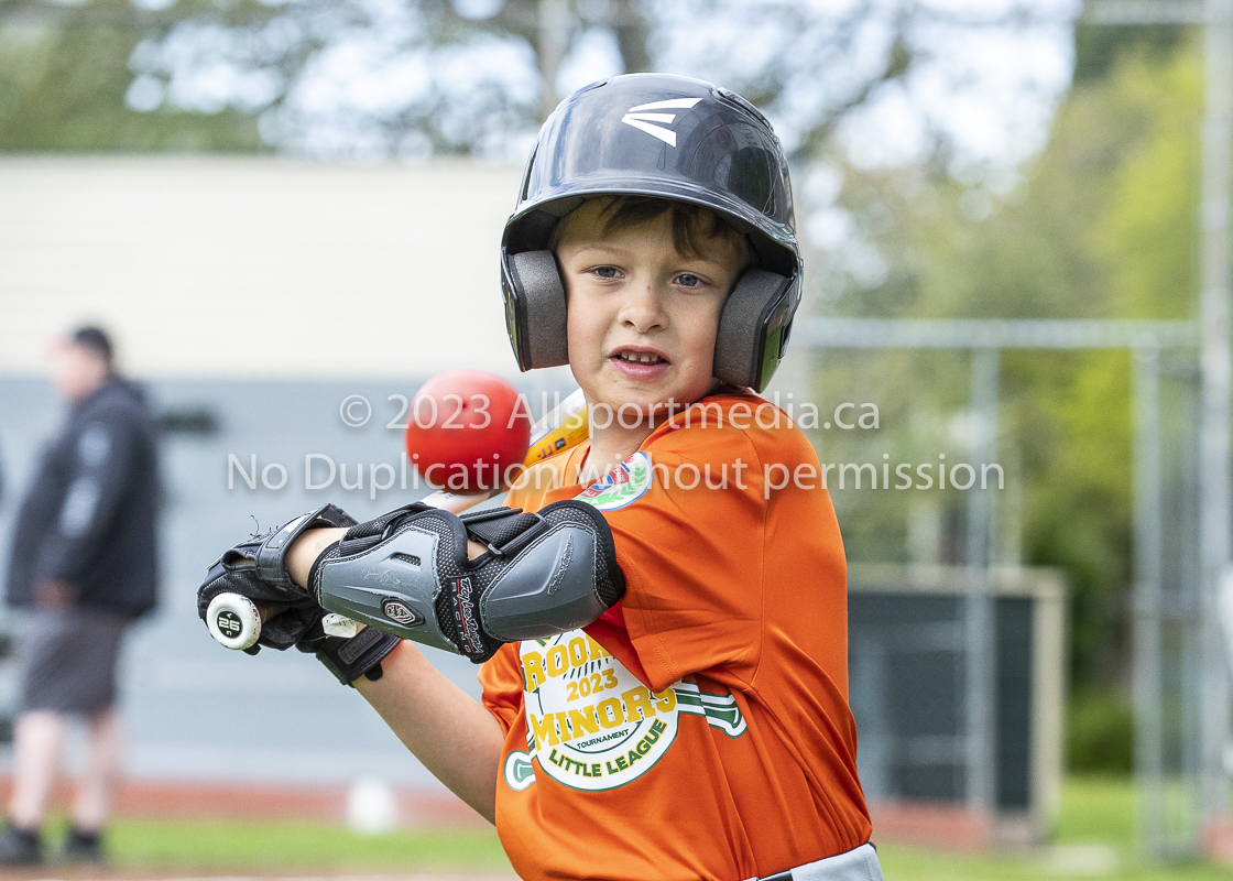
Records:
<instances>
[{"instance_id":1,"label":"blurred man in dark jacket, shorts and cap at far left","mask_svg":"<svg viewBox=\"0 0 1233 881\"><path fill-rule=\"evenodd\" d=\"M111 341L96 327L57 347L52 380L69 415L22 502L10 556L7 602L25 612L0 865L44 859L70 716L85 718L88 749L63 856L101 859L122 755L116 659L125 628L157 595L155 427L142 395L116 374Z\"/></svg>"}]
</instances>

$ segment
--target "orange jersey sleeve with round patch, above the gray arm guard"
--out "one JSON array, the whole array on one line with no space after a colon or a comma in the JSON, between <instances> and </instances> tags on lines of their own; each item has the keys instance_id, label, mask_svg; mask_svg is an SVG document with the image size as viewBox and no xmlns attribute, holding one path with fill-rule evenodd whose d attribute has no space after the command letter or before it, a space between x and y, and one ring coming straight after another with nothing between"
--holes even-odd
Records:
<instances>
[{"instance_id":1,"label":"orange jersey sleeve with round patch, above the gray arm guard","mask_svg":"<svg viewBox=\"0 0 1233 881\"><path fill-rule=\"evenodd\" d=\"M649 439L621 470L624 489L597 485L580 500L613 531L625 628L649 685L718 666L752 684L768 505L757 448L730 426L690 427Z\"/></svg>"}]
</instances>

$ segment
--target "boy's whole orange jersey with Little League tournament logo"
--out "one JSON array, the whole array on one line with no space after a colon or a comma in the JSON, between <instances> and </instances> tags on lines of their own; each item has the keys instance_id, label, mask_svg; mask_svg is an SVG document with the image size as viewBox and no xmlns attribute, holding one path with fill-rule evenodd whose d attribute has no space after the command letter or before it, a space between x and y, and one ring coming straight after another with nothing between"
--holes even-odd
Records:
<instances>
[{"instance_id":1,"label":"boy's whole orange jersey with Little League tournament logo","mask_svg":"<svg viewBox=\"0 0 1233 881\"><path fill-rule=\"evenodd\" d=\"M514 869L741 881L867 842L843 548L826 490L804 489L820 484L805 436L761 399L718 395L583 489L587 452L508 500L596 505L626 584L583 631L504 645L480 671L506 729L497 832Z\"/></svg>"}]
</instances>

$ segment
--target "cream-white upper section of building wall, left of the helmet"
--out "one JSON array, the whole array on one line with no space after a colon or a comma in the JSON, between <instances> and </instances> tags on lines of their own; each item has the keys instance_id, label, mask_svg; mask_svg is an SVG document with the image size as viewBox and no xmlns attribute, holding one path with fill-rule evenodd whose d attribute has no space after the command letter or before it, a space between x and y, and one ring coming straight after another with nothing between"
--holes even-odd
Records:
<instances>
[{"instance_id":1,"label":"cream-white upper section of building wall, left of the helmet","mask_svg":"<svg viewBox=\"0 0 1233 881\"><path fill-rule=\"evenodd\" d=\"M96 321L138 378L514 374L498 247L519 169L0 159L0 375Z\"/></svg>"}]
</instances>

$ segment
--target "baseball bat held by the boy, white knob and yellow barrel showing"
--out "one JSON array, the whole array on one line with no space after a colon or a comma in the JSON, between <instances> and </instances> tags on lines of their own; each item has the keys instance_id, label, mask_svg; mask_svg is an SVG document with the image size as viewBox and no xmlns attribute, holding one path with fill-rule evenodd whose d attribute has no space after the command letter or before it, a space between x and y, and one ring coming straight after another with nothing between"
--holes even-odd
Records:
<instances>
[{"instance_id":1,"label":"baseball bat held by the boy, white knob and yellow barrel showing","mask_svg":"<svg viewBox=\"0 0 1233 881\"><path fill-rule=\"evenodd\" d=\"M586 440L588 437L588 418L587 401L582 395L582 389L575 390L540 417L531 426L530 436L531 443L526 449L526 457L523 459L523 465L526 468ZM501 490L493 490L491 492L462 495L438 490L425 496L422 501L424 505L434 508L461 513L480 502L492 498L499 492ZM243 650L256 644L256 640L261 635L261 623L268 614L266 610L258 608L247 596L219 594L210 602L206 610L206 627L210 628L210 635L221 645L228 649ZM364 624L334 612L322 618L322 628L332 637L350 638L359 633L363 627Z\"/></svg>"}]
</instances>

